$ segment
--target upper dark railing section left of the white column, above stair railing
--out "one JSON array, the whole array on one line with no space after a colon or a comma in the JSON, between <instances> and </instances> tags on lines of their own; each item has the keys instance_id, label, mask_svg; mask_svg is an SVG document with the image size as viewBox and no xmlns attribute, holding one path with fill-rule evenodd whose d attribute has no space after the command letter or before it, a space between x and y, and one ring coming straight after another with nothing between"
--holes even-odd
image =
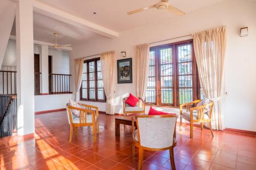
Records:
<instances>
[{"instance_id":1,"label":"upper dark railing section left of the white column, above stair railing","mask_svg":"<svg viewBox=\"0 0 256 170\"><path fill-rule=\"evenodd\" d=\"M16 71L0 70L0 94L16 94Z\"/></svg>"}]
</instances>

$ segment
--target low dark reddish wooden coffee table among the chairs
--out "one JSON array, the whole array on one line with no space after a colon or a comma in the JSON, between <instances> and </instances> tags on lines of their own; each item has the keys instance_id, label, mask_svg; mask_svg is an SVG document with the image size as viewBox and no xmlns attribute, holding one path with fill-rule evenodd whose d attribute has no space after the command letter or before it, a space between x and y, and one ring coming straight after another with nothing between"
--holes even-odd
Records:
<instances>
[{"instance_id":1,"label":"low dark reddish wooden coffee table among the chairs","mask_svg":"<svg viewBox=\"0 0 256 170\"><path fill-rule=\"evenodd\" d=\"M115 118L115 129L116 136L120 136L120 124L132 126L132 116L145 115L143 113L134 113L129 114L127 116L116 116ZM136 122L134 122L134 126L137 127Z\"/></svg>"}]
</instances>

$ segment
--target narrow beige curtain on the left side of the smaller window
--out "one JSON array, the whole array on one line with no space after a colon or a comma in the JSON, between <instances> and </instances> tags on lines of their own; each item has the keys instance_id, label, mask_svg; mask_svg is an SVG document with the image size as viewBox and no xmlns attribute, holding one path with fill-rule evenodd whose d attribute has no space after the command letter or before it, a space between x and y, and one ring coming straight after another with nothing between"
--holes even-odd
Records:
<instances>
[{"instance_id":1,"label":"narrow beige curtain on the left side of the smaller window","mask_svg":"<svg viewBox=\"0 0 256 170\"><path fill-rule=\"evenodd\" d=\"M79 100L79 90L82 83L83 58L75 59L75 101Z\"/></svg>"}]
</instances>

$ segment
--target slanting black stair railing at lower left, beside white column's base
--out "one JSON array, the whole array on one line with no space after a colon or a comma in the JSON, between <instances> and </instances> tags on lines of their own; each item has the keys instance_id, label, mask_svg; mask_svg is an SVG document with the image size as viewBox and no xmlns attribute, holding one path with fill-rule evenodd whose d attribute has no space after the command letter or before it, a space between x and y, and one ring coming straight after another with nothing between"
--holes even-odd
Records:
<instances>
[{"instance_id":1,"label":"slanting black stair railing at lower left, beside white column's base","mask_svg":"<svg viewBox=\"0 0 256 170\"><path fill-rule=\"evenodd\" d=\"M0 94L0 138L17 131L17 96Z\"/></svg>"}]
</instances>

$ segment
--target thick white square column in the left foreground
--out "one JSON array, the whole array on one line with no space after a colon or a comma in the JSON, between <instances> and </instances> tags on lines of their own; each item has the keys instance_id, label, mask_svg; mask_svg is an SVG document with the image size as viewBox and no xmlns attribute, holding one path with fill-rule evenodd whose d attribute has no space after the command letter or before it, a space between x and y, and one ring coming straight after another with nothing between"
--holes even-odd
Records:
<instances>
[{"instance_id":1,"label":"thick white square column in the left foreground","mask_svg":"<svg viewBox=\"0 0 256 170\"><path fill-rule=\"evenodd\" d=\"M34 133L34 47L32 0L16 6L18 134Z\"/></svg>"}]
</instances>

